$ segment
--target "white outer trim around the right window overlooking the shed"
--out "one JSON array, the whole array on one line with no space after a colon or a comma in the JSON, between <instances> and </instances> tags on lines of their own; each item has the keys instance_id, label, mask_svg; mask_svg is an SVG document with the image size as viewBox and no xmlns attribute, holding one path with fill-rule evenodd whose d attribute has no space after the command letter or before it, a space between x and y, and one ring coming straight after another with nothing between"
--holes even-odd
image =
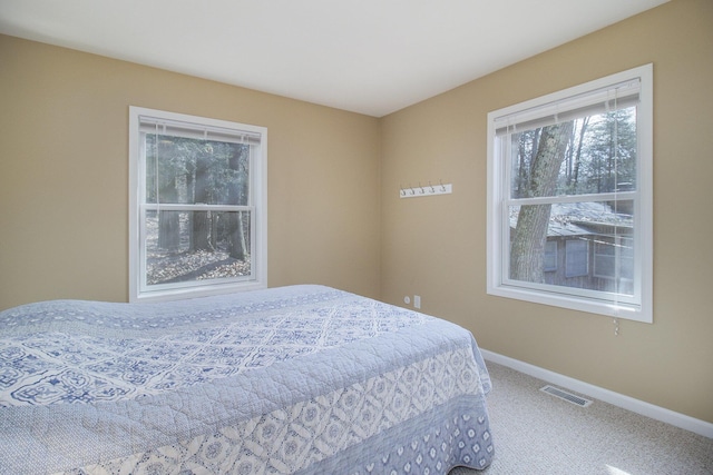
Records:
<instances>
[{"instance_id":1,"label":"white outer trim around the right window overlooking the shed","mask_svg":"<svg viewBox=\"0 0 713 475\"><path fill-rule=\"evenodd\" d=\"M559 286L518 287L508 283L504 263L509 251L504 243L504 226L509 218L502 209L504 182L508 176L506 164L497 150L497 119L516 112L537 110L548 103L565 101L585 96L633 79L641 80L639 103L637 107L637 199L634 210L634 241L637 263L635 280L636 297L606 298L604 293L572 293ZM488 201L487 201L487 293L499 297L515 298L536 304L551 305L574 310L594 313L615 318L626 318L643 323L653 323L653 65L645 65L605 78L600 78L566 90L543 96L526 102L506 107L488 113L487 129L488 157ZM576 197L579 200L582 197ZM564 197L563 200L568 200ZM539 287L539 288L538 288ZM579 295L576 295L579 294ZM603 298L605 297L605 298Z\"/></svg>"}]
</instances>

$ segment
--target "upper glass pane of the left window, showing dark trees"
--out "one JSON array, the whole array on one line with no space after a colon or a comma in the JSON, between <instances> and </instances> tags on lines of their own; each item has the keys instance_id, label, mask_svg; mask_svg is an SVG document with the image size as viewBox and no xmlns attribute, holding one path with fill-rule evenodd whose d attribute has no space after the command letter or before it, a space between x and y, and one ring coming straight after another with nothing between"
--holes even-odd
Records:
<instances>
[{"instance_id":1,"label":"upper glass pane of the left window, showing dark trees","mask_svg":"<svg viewBox=\"0 0 713 475\"><path fill-rule=\"evenodd\" d=\"M146 135L146 202L247 206L250 146Z\"/></svg>"}]
</instances>

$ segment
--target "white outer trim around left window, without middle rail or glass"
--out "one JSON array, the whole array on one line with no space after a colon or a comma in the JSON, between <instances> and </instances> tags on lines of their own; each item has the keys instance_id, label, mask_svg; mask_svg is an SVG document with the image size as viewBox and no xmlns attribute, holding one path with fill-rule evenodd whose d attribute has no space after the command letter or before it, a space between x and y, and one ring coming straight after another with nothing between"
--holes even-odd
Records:
<instances>
[{"instance_id":1,"label":"white outer trim around left window, without middle rail or glass","mask_svg":"<svg viewBox=\"0 0 713 475\"><path fill-rule=\"evenodd\" d=\"M256 247L253 258L253 276L248 280L226 281L207 285L188 285L183 288L141 290L141 273L145 273L141 257L141 140L139 121L141 117L158 120L188 122L213 130L240 130L251 138L256 137L260 145L251 157L251 194L255 208L253 243ZM250 138L248 138L250 140ZM184 206L185 207L185 206ZM231 122L226 120L167 112L163 110L129 107L129 301L166 301L182 298L205 297L243 290L256 290L267 287L267 129L265 127Z\"/></svg>"}]
</instances>

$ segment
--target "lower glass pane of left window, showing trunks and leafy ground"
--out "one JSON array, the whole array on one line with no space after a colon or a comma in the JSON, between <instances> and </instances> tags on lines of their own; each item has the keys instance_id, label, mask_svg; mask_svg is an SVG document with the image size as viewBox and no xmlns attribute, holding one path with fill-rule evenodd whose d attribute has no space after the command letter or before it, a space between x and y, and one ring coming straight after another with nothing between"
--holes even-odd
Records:
<instances>
[{"instance_id":1,"label":"lower glass pane of left window, showing trunks and leafy ground","mask_svg":"<svg viewBox=\"0 0 713 475\"><path fill-rule=\"evenodd\" d=\"M250 211L146 211L146 284L251 277Z\"/></svg>"}]
</instances>

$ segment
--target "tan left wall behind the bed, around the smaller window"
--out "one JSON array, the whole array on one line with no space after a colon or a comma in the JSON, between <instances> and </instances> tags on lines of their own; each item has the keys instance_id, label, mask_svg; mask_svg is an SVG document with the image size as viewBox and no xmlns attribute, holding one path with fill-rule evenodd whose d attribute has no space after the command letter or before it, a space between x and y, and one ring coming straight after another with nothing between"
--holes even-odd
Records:
<instances>
[{"instance_id":1,"label":"tan left wall behind the bed, around the smaller window","mask_svg":"<svg viewBox=\"0 0 713 475\"><path fill-rule=\"evenodd\" d=\"M0 36L0 309L128 298L128 107L267 127L268 284L379 296L372 117Z\"/></svg>"}]
</instances>

